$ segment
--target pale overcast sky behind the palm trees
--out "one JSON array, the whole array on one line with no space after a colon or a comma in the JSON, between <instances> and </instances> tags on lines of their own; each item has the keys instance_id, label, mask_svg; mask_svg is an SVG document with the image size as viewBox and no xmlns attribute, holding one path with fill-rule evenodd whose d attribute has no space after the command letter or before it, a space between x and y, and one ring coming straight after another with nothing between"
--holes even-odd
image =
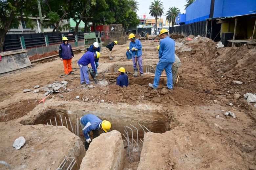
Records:
<instances>
[{"instance_id":1,"label":"pale overcast sky behind the palm trees","mask_svg":"<svg viewBox=\"0 0 256 170\"><path fill-rule=\"evenodd\" d=\"M150 16L149 14L149 6L151 5L151 2L154 2L154 0L137 0L139 11L137 11L137 14L139 18L143 18L143 14L146 14L146 18L148 19L154 19L155 17ZM184 5L186 4L186 0L160 0L163 3L164 7L164 14L161 16L161 18L165 18L166 12L170 7L176 7L181 10L181 13L185 13Z\"/></svg>"}]
</instances>

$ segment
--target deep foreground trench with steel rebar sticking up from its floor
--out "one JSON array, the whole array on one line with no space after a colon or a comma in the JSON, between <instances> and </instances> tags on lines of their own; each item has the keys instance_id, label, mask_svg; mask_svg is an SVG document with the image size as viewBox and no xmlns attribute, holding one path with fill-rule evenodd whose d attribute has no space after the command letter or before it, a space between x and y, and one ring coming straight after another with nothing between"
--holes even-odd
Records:
<instances>
[{"instance_id":1,"label":"deep foreground trench with steel rebar sticking up from its floor","mask_svg":"<svg viewBox=\"0 0 256 170\"><path fill-rule=\"evenodd\" d=\"M137 111L131 111L129 108L127 108L126 110L124 110L122 112L122 114L120 114L119 110L115 110L114 108L110 110L110 112L112 114L109 114L109 111L107 110L101 110L101 111L84 111L84 110L76 110L73 111L72 114L69 113L68 110L65 109L60 109L60 108L48 108L45 109L44 111L42 111L39 116L34 120L34 121L23 121L21 122L24 125L35 125L35 124L47 124L50 125L50 119L51 119L51 123L52 125L62 125L67 127L66 124L66 120L68 123L68 129L72 132L72 128L70 126L70 122L69 119L71 121L71 124L73 126L73 131L75 133L75 124L77 119L79 119L81 116L88 114L88 113L92 113L96 116L98 116L101 120L109 120L112 124L112 128L111 130L117 130L119 131L121 134L125 134L124 130L124 126L128 126L130 128L133 129L133 137L134 140L137 141L137 130L135 128L133 128L131 126L131 124L133 126L135 126L138 129L139 132L139 139L141 139L143 141L143 136L144 136L144 131L148 132L148 130L150 130L151 132L155 132L155 133L164 133L168 130L169 127L169 123L168 123L168 117L165 114L165 112L161 111L159 112L158 110L137 110ZM61 115L61 117L60 117ZM128 116L129 115L129 116ZM56 118L56 122L55 122L55 118ZM62 118L62 123L61 123L61 118ZM66 118L66 120L65 120ZM140 127L140 125L144 125L145 127L148 128L148 130L146 130L144 128L143 129ZM80 124L79 124L80 126ZM128 128L127 128L128 129ZM129 141L132 142L132 133L131 130L129 130ZM100 133L103 133L100 131ZM93 136L93 135L90 135ZM79 137L80 139L84 142L84 137L82 134L82 130L81 128L79 129ZM127 145L127 141L124 138L124 136L122 135L123 138L123 142L124 142L124 146L125 146L125 167L124 168L130 168L130 166L132 166L134 168L134 166L138 166L139 164L139 150L141 153L141 149L142 149L142 142L139 140L139 150L137 147L137 144L134 142L134 161L133 161L133 157L132 157L132 147L131 145L129 145L130 147L130 158L128 157L128 145ZM134 164L135 162L137 162L136 164ZM79 165L80 166L80 165Z\"/></svg>"}]
</instances>

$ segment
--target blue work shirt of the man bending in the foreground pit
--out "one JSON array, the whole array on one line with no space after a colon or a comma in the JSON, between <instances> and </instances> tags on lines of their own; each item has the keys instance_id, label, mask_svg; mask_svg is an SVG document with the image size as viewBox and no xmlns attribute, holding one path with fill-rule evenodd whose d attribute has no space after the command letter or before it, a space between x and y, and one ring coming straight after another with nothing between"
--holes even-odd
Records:
<instances>
[{"instance_id":1,"label":"blue work shirt of the man bending in the foreground pit","mask_svg":"<svg viewBox=\"0 0 256 170\"><path fill-rule=\"evenodd\" d=\"M82 129L85 139L90 139L89 133L92 130L100 130L100 120L97 116L88 114L84 115L81 118L81 123L84 125L84 129Z\"/></svg>"}]
</instances>

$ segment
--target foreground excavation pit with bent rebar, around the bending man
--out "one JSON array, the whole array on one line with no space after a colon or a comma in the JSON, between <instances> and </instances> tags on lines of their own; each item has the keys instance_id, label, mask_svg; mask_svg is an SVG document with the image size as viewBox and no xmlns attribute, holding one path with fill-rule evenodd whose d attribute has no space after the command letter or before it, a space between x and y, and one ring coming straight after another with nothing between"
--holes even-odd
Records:
<instances>
[{"instance_id":1,"label":"foreground excavation pit with bent rebar, around the bending man","mask_svg":"<svg viewBox=\"0 0 256 170\"><path fill-rule=\"evenodd\" d=\"M128 127L132 128L133 130L133 138L137 142L137 130L133 127L135 126L138 129L138 134L139 134L139 149L141 153L141 148L142 148L142 141L144 137L144 132L155 132L155 133L164 133L169 129L169 123L168 123L168 116L165 113L165 111L161 110L160 108L154 107L154 106L144 106L144 105L138 105L138 106L132 106L132 105L123 105L121 106L122 109L116 106L111 106L111 105L101 105L99 104L97 107L94 107L93 105L72 105L72 104L63 104L62 106L58 105L51 105L46 107L43 110L40 110L38 112L37 116L35 116L31 120L23 120L20 123L24 125L34 125L34 124L44 124L48 125L50 124L50 119L52 122L52 125L55 126L56 122L57 125L62 125L67 126L68 129L72 132L72 128L69 123L70 122L73 126L73 132L75 133L75 127L77 124L77 120L79 120L80 117L86 114L94 114L98 116L101 120L108 120L112 124L111 130L117 130L121 134L124 134L127 137L127 134L124 132L126 126L126 129L128 130L128 136L129 136L129 141L132 143L132 131L131 129L128 129ZM154 108L154 109L153 109ZM87 110L91 109L91 110ZM60 118L61 116L61 118ZM55 122L56 118L56 122ZM67 119L67 124L65 121L65 118ZM62 123L61 123L62 119ZM78 123L79 124L79 123ZM143 129L140 127L140 125L144 128ZM133 126L132 126L133 125ZM80 126L80 124L78 125ZM127 127L128 126L128 127ZM47 127L47 126L46 126ZM146 128L148 129L146 129ZM60 132L61 133L61 132ZM100 131L100 133L103 133ZM84 141L84 137L82 134L82 130L79 127L79 133L78 133L80 139ZM77 135L77 134L76 134ZM127 140L124 138L124 135L122 135L122 139L124 142L125 146L125 168L129 168L130 166L137 167L139 164L139 149L134 142L134 160L132 157L132 146L131 144L129 145L129 153L130 153L130 158L128 157L128 145L127 145ZM93 135L90 135L91 137ZM132 169L133 169L132 168Z\"/></svg>"}]
</instances>

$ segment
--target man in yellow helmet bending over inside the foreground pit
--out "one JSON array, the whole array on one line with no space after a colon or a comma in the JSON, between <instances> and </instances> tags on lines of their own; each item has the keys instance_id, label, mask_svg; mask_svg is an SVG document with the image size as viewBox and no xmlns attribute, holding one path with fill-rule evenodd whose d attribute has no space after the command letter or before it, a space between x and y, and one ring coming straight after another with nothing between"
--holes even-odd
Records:
<instances>
[{"instance_id":1,"label":"man in yellow helmet bending over inside the foreground pit","mask_svg":"<svg viewBox=\"0 0 256 170\"><path fill-rule=\"evenodd\" d=\"M104 133L111 129L111 123L109 121L102 121L97 116L88 114L80 118L80 125L82 127L83 135L85 138L84 146L85 150L89 148L92 139L89 136L90 131L93 131L93 139L99 136L99 130L102 129Z\"/></svg>"}]
</instances>

